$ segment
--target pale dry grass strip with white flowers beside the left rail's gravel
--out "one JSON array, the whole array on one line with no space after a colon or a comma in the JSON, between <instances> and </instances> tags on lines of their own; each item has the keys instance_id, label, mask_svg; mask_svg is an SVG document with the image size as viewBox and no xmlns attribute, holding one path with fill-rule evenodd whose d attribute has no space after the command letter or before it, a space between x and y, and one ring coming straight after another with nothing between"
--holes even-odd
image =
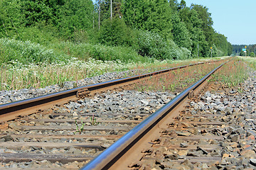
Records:
<instances>
[{"instance_id":1,"label":"pale dry grass strip with white flowers beside the left rail's gravel","mask_svg":"<svg viewBox=\"0 0 256 170\"><path fill-rule=\"evenodd\" d=\"M122 72L135 69L132 74L127 75L131 76L196 62L198 60L154 60L153 62L126 63L119 60L103 62L95 59L85 62L76 58L71 58L66 62L41 64L11 62L0 65L0 90L28 89L30 87L44 88L53 84L63 84L65 81L78 81L86 77L94 77L106 72Z\"/></svg>"}]
</instances>

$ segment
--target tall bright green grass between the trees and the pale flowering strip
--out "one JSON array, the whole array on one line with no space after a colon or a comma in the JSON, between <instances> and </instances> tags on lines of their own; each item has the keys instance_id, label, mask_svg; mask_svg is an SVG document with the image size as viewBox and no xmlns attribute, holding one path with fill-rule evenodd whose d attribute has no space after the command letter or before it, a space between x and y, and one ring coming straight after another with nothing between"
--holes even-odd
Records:
<instances>
[{"instance_id":1,"label":"tall bright green grass between the trees and the pale flowering strip","mask_svg":"<svg viewBox=\"0 0 256 170\"><path fill-rule=\"evenodd\" d=\"M33 62L65 62L71 57L79 60L95 60L122 62L149 62L152 59L138 55L130 47L113 47L107 45L92 45L89 43L53 42L46 46L36 42L0 38L0 64L18 61L23 64Z\"/></svg>"}]
</instances>

